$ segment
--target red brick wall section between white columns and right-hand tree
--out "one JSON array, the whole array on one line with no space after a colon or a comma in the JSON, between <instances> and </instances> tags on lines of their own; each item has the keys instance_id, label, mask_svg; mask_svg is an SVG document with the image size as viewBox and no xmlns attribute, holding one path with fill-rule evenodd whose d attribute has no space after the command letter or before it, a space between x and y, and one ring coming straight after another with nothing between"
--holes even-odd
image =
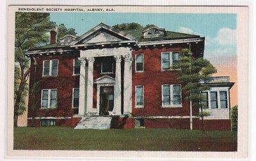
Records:
<instances>
[{"instance_id":1,"label":"red brick wall section between white columns and right-hand tree","mask_svg":"<svg viewBox=\"0 0 256 161\"><path fill-rule=\"evenodd\" d=\"M132 52L144 55L144 72L135 73L135 61L132 61L132 114L134 116L189 116L189 101L182 92L182 107L163 108L161 86L163 84L180 84L173 71L161 71L161 52L179 51L181 47L161 49L141 49ZM144 86L144 108L135 108L135 86ZM193 114L198 113L197 109Z\"/></svg>"}]
</instances>

